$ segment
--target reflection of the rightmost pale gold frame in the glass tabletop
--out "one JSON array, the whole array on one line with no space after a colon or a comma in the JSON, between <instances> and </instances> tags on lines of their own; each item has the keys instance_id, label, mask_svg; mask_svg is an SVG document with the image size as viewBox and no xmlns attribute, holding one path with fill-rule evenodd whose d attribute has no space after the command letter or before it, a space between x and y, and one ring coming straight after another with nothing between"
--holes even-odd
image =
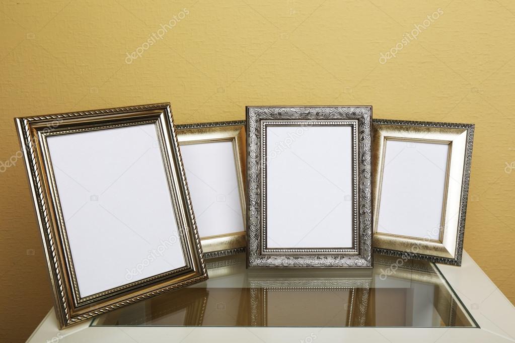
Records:
<instances>
[{"instance_id":1,"label":"reflection of the rightmost pale gold frame in the glass tabletop","mask_svg":"<svg viewBox=\"0 0 515 343\"><path fill-rule=\"evenodd\" d=\"M477 327L434 263L374 255L370 326Z\"/></svg>"}]
</instances>

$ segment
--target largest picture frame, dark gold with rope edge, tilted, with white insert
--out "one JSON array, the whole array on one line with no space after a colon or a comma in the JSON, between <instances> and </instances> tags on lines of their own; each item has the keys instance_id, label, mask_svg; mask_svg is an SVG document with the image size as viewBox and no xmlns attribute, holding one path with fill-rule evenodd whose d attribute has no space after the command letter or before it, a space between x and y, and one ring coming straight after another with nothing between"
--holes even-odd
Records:
<instances>
[{"instance_id":1,"label":"largest picture frame, dark gold with rope edge, tilted, with white insert","mask_svg":"<svg viewBox=\"0 0 515 343\"><path fill-rule=\"evenodd\" d=\"M61 328L208 278L169 103L15 123Z\"/></svg>"}]
</instances>

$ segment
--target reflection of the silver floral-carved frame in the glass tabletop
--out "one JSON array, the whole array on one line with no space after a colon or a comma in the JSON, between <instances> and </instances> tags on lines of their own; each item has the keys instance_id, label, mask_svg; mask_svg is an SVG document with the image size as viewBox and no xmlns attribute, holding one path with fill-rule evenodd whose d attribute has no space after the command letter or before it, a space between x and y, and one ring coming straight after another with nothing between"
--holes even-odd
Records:
<instances>
[{"instance_id":1,"label":"reflection of the silver floral-carved frame in the glass tabletop","mask_svg":"<svg viewBox=\"0 0 515 343\"><path fill-rule=\"evenodd\" d=\"M240 313L249 326L362 327L366 325L371 272L330 269L248 272L249 296ZM316 315L314 315L316 313ZM241 320L244 318L241 317Z\"/></svg>"}]
</instances>

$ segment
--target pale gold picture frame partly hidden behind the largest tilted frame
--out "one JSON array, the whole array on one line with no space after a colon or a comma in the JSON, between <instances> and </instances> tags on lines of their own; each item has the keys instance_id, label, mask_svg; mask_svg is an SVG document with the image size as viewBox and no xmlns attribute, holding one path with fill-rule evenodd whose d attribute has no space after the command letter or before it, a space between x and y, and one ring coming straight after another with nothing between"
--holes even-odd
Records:
<instances>
[{"instance_id":1,"label":"pale gold picture frame partly hidden behind the largest tilted frame","mask_svg":"<svg viewBox=\"0 0 515 343\"><path fill-rule=\"evenodd\" d=\"M177 125L204 258L247 245L245 120Z\"/></svg>"}]
</instances>

